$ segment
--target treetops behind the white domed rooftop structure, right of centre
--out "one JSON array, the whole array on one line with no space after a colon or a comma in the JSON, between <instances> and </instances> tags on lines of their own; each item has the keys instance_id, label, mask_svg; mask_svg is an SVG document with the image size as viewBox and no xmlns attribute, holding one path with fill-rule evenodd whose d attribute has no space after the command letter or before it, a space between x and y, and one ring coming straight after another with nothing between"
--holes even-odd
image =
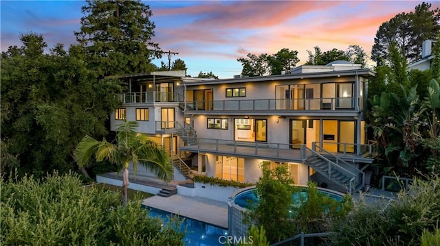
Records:
<instances>
[{"instance_id":1,"label":"treetops behind the white domed rooftop structure, right of centre","mask_svg":"<svg viewBox=\"0 0 440 246\"><path fill-rule=\"evenodd\" d=\"M349 45L346 51L339 49L331 49L329 51L322 52L320 47L314 47L314 53L309 53L309 60L305 65L327 65L330 62L336 60L347 60L354 64L361 64L362 67L366 67L366 53L359 45Z\"/></svg>"}]
</instances>

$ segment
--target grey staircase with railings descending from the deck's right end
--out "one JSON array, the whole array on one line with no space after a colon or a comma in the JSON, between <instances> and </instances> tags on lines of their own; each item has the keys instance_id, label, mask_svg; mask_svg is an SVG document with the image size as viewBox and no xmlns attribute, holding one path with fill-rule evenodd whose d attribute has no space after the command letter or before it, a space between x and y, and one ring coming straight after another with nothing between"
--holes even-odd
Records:
<instances>
[{"instance_id":1,"label":"grey staircase with railings descending from the deck's right end","mask_svg":"<svg viewBox=\"0 0 440 246\"><path fill-rule=\"evenodd\" d=\"M314 146L314 149L318 149L318 151L307 147L306 149L311 154L307 156L305 163L315 169L317 173L347 189L351 194L364 187L364 172L352 164L318 146Z\"/></svg>"}]
</instances>

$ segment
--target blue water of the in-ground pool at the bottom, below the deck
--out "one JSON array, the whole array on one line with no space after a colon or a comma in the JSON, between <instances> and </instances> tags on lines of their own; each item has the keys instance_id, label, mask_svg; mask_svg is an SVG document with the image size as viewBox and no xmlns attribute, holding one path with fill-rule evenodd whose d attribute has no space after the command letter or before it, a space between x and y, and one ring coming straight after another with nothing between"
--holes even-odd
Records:
<instances>
[{"instance_id":1,"label":"blue water of the in-ground pool at the bottom, below the deck","mask_svg":"<svg viewBox=\"0 0 440 246\"><path fill-rule=\"evenodd\" d=\"M166 223L170 216L173 216L170 212L164 210L158 210L155 208L146 208L152 217L159 217ZM195 219L190 219L187 217L179 217L184 219L181 224L181 230L183 231L186 227L186 234L184 236L184 243L186 246L217 246L221 245L219 243L220 236L227 236L228 230L225 228L217 227L197 221Z\"/></svg>"}]
</instances>

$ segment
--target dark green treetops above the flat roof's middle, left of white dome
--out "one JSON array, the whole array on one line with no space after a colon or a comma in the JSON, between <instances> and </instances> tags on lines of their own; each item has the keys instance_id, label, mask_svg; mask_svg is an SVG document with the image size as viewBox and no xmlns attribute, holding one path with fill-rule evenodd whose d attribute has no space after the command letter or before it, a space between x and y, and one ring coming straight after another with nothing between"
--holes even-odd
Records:
<instances>
[{"instance_id":1,"label":"dark green treetops above the flat roof's middle, left of white dome","mask_svg":"<svg viewBox=\"0 0 440 246\"><path fill-rule=\"evenodd\" d=\"M254 77L263 75L289 74L299 62L298 51L283 48L273 55L262 53L259 56L248 53L247 58L238 58L243 69L241 75Z\"/></svg>"}]
</instances>

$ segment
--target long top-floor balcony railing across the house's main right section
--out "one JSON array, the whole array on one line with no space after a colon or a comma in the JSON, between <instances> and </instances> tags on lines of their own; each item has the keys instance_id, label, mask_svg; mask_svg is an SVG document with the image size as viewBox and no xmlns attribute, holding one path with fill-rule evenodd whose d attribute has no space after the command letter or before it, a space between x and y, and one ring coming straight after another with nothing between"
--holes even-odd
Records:
<instances>
[{"instance_id":1,"label":"long top-floor balcony railing across the house's main right section","mask_svg":"<svg viewBox=\"0 0 440 246\"><path fill-rule=\"evenodd\" d=\"M353 110L354 108L353 97L186 102L186 110Z\"/></svg>"}]
</instances>

